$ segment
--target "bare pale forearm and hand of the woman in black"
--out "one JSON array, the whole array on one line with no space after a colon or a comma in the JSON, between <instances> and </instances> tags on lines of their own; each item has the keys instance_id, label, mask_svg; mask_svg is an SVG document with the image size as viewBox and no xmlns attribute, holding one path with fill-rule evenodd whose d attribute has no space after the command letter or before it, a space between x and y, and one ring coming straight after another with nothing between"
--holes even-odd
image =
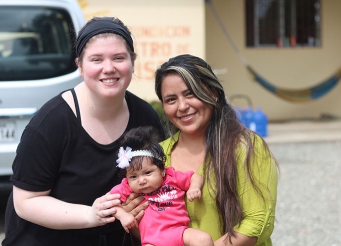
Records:
<instances>
[{"instance_id":1,"label":"bare pale forearm and hand of the woman in black","mask_svg":"<svg viewBox=\"0 0 341 246\"><path fill-rule=\"evenodd\" d=\"M120 204L118 194L106 194L92 206L72 204L49 196L50 191L31 192L13 186L14 208L19 217L50 229L83 229L115 221L110 215Z\"/></svg>"}]
</instances>

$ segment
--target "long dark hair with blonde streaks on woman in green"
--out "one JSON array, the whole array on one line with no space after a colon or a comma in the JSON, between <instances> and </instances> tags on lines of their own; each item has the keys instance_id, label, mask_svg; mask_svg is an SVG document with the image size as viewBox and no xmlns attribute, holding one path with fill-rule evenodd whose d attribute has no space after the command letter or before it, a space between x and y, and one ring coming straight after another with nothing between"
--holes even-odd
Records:
<instances>
[{"instance_id":1,"label":"long dark hair with blonde streaks on woman in green","mask_svg":"<svg viewBox=\"0 0 341 246\"><path fill-rule=\"evenodd\" d=\"M264 198L251 174L250 158L254 154L255 133L245 128L237 118L236 110L228 103L223 87L210 65L203 59L189 55L170 58L155 72L155 92L162 101L162 80L169 74L180 75L188 89L201 101L213 107L212 118L205 132L204 177L213 191L219 213L222 216L222 234L228 233L229 240L235 236L234 226L241 223L243 211L237 191L237 163L241 161L237 148L245 149L244 165L249 181L258 194ZM170 132L178 129L170 124ZM263 141L269 155L271 152ZM214 173L215 183L210 179Z\"/></svg>"}]
</instances>

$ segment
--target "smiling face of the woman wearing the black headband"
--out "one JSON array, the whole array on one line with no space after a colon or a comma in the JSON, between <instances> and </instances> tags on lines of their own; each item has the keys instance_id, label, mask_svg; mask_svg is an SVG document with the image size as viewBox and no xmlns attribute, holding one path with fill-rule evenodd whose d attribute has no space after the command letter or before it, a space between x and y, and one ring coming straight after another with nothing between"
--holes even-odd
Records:
<instances>
[{"instance_id":1,"label":"smiling face of the woman wearing the black headband","mask_svg":"<svg viewBox=\"0 0 341 246\"><path fill-rule=\"evenodd\" d=\"M134 60L122 37L98 35L91 40L78 60L79 71L95 95L124 95L134 72Z\"/></svg>"}]
</instances>

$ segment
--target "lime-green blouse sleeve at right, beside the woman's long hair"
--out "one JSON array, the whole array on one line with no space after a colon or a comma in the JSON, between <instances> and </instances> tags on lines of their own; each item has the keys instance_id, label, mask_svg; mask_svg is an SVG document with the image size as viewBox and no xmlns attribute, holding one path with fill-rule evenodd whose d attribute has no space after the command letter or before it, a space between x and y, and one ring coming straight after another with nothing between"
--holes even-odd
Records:
<instances>
[{"instance_id":1,"label":"lime-green blouse sleeve at right, beside the woman's long hair","mask_svg":"<svg viewBox=\"0 0 341 246\"><path fill-rule=\"evenodd\" d=\"M251 157L251 174L263 198L247 177L244 159L245 148L241 147L238 163L238 193L244 219L235 230L245 236L257 237L256 246L270 246L272 245L270 235L275 222L277 165L263 147L262 140L256 136L254 154Z\"/></svg>"}]
</instances>

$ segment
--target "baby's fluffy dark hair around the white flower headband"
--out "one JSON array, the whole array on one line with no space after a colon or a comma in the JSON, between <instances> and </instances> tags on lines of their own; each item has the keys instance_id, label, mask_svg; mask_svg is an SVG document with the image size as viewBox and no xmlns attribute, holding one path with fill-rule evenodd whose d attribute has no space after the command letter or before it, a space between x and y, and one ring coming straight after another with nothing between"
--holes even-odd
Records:
<instances>
[{"instance_id":1,"label":"baby's fluffy dark hair around the white flower headband","mask_svg":"<svg viewBox=\"0 0 341 246\"><path fill-rule=\"evenodd\" d=\"M141 126L133 128L121 137L120 146L124 149L127 147L135 150L148 150L154 157L149 156L134 156L130 161L130 168L140 170L144 158L150 158L152 163L161 171L165 168L164 161L166 156L159 142L162 141L161 134L158 129L152 126Z\"/></svg>"}]
</instances>

